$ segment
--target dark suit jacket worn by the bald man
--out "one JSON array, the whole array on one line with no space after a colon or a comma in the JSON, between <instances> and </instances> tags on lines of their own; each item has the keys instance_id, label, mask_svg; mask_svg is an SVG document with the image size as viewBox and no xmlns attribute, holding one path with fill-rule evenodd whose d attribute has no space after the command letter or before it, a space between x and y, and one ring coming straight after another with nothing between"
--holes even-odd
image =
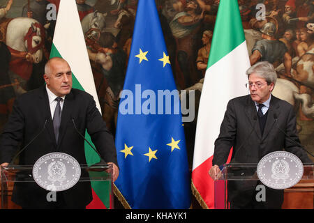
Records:
<instances>
[{"instance_id":1,"label":"dark suit jacket worn by the bald man","mask_svg":"<svg viewBox=\"0 0 314 223\"><path fill-rule=\"evenodd\" d=\"M117 164L117 152L112 134L107 130L93 97L84 91L72 89L66 95L61 114L59 143L56 144L45 86L24 93L15 100L13 112L0 139L0 163L10 162L19 145L23 148L28 144L38 132L43 130L47 120L45 130L21 153L20 164L33 165L39 157L52 152L67 153L75 157L80 164L86 164L84 139L76 132L72 118L83 135L87 130L105 162ZM60 193L69 207L83 207L92 199L89 183L78 183ZM13 201L24 207L36 206L38 203L45 206L46 195L47 191L42 190L38 185L26 186L17 183Z\"/></svg>"}]
</instances>

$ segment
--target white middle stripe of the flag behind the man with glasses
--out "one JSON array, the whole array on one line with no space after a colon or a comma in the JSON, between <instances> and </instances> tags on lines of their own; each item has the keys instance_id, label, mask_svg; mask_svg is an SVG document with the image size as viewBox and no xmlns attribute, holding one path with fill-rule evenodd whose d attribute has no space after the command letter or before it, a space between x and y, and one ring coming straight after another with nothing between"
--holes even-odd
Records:
<instances>
[{"instance_id":1,"label":"white middle stripe of the flag behind the man with glasses","mask_svg":"<svg viewBox=\"0 0 314 223\"><path fill-rule=\"evenodd\" d=\"M227 102L248 93L245 73L250 63L245 55L248 55L246 41L207 69L197 116L193 170L214 155L214 142Z\"/></svg>"}]
</instances>

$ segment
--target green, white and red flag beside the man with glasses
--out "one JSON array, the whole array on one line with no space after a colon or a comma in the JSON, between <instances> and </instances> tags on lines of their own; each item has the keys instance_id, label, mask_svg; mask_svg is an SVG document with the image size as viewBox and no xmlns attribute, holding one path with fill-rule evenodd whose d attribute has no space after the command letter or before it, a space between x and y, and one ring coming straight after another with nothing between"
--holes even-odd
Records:
<instances>
[{"instance_id":1,"label":"green, white and red flag beside the man with glasses","mask_svg":"<svg viewBox=\"0 0 314 223\"><path fill-rule=\"evenodd\" d=\"M203 208L214 208L214 180L208 174L214 142L227 102L248 93L245 73L249 67L237 0L220 0L200 98L193 156L192 190Z\"/></svg>"}]
</instances>

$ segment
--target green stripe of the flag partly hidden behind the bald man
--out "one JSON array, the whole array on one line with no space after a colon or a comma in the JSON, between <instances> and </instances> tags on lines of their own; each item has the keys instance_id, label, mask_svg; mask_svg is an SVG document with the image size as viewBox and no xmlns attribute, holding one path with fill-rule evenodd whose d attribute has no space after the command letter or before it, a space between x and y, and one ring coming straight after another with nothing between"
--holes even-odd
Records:
<instances>
[{"instance_id":1,"label":"green stripe of the flag partly hidden behind the bald man","mask_svg":"<svg viewBox=\"0 0 314 223\"><path fill-rule=\"evenodd\" d=\"M59 53L59 50L57 49L57 47L54 45L54 43L52 43L52 48L50 52L50 58L52 57L63 58L61 54ZM72 73L72 82L73 82L73 88L85 91L73 73ZM87 141L89 141L91 145L94 146L93 142L91 141L91 137L89 136L87 131L85 132L85 138L87 139ZM100 157L98 156L98 154L94 151L93 148L91 148L91 146L89 146L89 144L86 141L84 144L84 148L85 148L85 156L86 156L87 165L91 166L92 164L95 164L100 161ZM108 196L109 194L108 191L110 191L111 183L107 181L103 181L103 182L96 181L96 182L91 183L91 187L93 187L93 190L96 192L97 196L103 202L103 204L107 208L109 208L110 196Z\"/></svg>"}]
</instances>

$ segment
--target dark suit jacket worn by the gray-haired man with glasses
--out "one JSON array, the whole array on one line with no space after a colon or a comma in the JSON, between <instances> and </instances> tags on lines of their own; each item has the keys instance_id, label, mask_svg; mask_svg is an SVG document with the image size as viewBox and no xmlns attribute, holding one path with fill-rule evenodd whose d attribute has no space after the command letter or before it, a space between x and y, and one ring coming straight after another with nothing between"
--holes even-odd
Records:
<instances>
[{"instance_id":1,"label":"dark suit jacket worn by the gray-haired man with glasses","mask_svg":"<svg viewBox=\"0 0 314 223\"><path fill-rule=\"evenodd\" d=\"M275 118L277 117L277 123ZM299 142L296 129L296 116L292 105L271 95L267 122L261 134L255 103L251 95L234 98L228 102L225 117L220 126L220 134L215 141L213 165L227 162L230 148L233 146L232 161L239 163L257 163L264 155L274 151L294 153L302 162L312 162L306 152L288 139L285 131L294 141ZM245 205L251 200L257 182L228 182L229 200L237 206ZM274 196L275 194L275 196ZM266 206L280 206L283 202L283 190L267 187Z\"/></svg>"}]
</instances>

